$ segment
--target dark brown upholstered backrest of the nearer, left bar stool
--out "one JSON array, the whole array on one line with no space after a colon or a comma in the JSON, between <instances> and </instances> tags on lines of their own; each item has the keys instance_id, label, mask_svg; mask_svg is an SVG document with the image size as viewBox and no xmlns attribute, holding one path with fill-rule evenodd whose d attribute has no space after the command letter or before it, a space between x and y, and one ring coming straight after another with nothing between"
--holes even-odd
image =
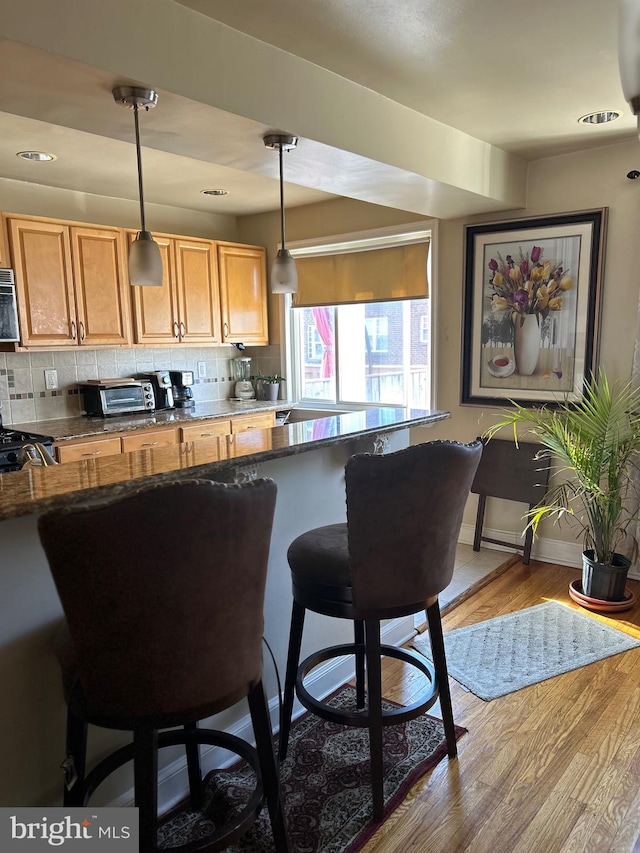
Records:
<instances>
[{"instance_id":1,"label":"dark brown upholstered backrest of the nearer, left bar stool","mask_svg":"<svg viewBox=\"0 0 640 853\"><path fill-rule=\"evenodd\" d=\"M40 518L89 711L213 713L246 695L276 491L191 480Z\"/></svg>"}]
</instances>

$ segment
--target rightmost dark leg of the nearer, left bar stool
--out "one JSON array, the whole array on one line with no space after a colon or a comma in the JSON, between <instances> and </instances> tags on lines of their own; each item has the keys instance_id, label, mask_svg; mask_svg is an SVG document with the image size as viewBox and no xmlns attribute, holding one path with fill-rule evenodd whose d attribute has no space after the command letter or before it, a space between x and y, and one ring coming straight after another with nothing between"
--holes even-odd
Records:
<instances>
[{"instance_id":1,"label":"rightmost dark leg of the nearer, left bar stool","mask_svg":"<svg viewBox=\"0 0 640 853\"><path fill-rule=\"evenodd\" d=\"M273 748L273 733L269 719L269 707L262 681L259 681L249 692L249 710L253 733L256 738L256 749L262 773L262 784L267 798L271 829L277 853L289 853L289 838L287 825L282 807L280 781Z\"/></svg>"}]
</instances>

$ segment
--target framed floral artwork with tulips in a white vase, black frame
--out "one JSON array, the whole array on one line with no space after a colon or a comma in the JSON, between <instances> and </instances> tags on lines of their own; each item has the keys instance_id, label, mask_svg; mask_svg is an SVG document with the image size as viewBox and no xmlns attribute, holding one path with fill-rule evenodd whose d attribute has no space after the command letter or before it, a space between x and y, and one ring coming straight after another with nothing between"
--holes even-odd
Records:
<instances>
[{"instance_id":1,"label":"framed floral artwork with tulips in a white vase, black frame","mask_svg":"<svg viewBox=\"0 0 640 853\"><path fill-rule=\"evenodd\" d=\"M463 404L577 402L596 369L607 209L465 228Z\"/></svg>"}]
</instances>

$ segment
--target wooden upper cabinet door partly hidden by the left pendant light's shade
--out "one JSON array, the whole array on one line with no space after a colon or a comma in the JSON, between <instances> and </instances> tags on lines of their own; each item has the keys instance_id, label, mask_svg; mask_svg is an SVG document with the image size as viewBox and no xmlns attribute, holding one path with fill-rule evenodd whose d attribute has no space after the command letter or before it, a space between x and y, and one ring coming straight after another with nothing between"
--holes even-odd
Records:
<instances>
[{"instance_id":1,"label":"wooden upper cabinet door partly hidden by the left pendant light's shade","mask_svg":"<svg viewBox=\"0 0 640 853\"><path fill-rule=\"evenodd\" d=\"M128 232L128 244L136 234L137 231ZM173 240L157 234L153 239L162 256L162 287L129 287L133 298L134 340L151 346L177 343L180 337Z\"/></svg>"}]
</instances>

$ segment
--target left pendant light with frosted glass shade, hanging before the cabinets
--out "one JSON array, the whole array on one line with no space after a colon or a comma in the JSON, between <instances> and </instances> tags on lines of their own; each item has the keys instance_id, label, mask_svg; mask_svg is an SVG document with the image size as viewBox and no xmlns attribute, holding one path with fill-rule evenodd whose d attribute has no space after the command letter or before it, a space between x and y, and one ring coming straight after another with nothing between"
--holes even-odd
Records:
<instances>
[{"instance_id":1,"label":"left pendant light with frosted glass shade, hanging before the cabinets","mask_svg":"<svg viewBox=\"0 0 640 853\"><path fill-rule=\"evenodd\" d=\"M138 159L138 195L140 198L140 231L129 248L129 281L132 285L162 287L163 269L160 247L147 231L144 218L144 193L142 189L142 156L138 110L150 110L158 103L158 93L137 86L116 86L113 97L117 103L133 109L136 131L136 156Z\"/></svg>"}]
</instances>

